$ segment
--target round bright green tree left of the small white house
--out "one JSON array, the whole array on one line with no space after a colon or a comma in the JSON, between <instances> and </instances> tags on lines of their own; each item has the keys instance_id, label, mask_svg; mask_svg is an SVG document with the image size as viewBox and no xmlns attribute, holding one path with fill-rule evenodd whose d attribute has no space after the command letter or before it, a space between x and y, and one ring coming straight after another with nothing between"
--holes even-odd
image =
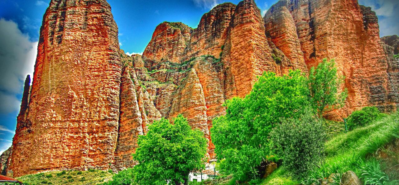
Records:
<instances>
[{"instance_id":1,"label":"round bright green tree left of the small white house","mask_svg":"<svg viewBox=\"0 0 399 185\"><path fill-rule=\"evenodd\" d=\"M174 119L154 121L148 132L138 138L133 154L139 162L134 167L135 182L142 185L187 184L192 170L203 169L207 141L200 130L192 130L182 115Z\"/></svg>"}]
</instances>

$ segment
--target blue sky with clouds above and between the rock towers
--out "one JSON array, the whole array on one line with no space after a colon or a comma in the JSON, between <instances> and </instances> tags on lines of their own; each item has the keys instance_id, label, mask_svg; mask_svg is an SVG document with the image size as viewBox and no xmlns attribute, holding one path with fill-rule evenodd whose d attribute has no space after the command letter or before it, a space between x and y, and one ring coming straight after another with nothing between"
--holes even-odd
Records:
<instances>
[{"instance_id":1,"label":"blue sky with clouds above and between the rock towers","mask_svg":"<svg viewBox=\"0 0 399 185\"><path fill-rule=\"evenodd\" d=\"M23 84L33 73L43 14L50 0L0 0L0 152L11 145ZM142 53L163 21L197 27L216 4L240 0L108 0L126 53ZM277 0L255 0L263 14ZM359 0L379 17L381 36L399 35L398 0Z\"/></svg>"}]
</instances>

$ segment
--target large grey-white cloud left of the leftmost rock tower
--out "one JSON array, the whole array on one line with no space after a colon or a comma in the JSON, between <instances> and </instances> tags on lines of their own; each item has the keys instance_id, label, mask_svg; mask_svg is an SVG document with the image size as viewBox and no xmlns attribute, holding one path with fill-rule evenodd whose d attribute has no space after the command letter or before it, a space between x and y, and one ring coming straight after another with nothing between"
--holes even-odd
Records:
<instances>
[{"instance_id":1,"label":"large grey-white cloud left of the leftmost rock tower","mask_svg":"<svg viewBox=\"0 0 399 185\"><path fill-rule=\"evenodd\" d=\"M17 23L0 19L0 113L18 111L26 75L32 77L38 42L18 29Z\"/></svg>"}]
</instances>

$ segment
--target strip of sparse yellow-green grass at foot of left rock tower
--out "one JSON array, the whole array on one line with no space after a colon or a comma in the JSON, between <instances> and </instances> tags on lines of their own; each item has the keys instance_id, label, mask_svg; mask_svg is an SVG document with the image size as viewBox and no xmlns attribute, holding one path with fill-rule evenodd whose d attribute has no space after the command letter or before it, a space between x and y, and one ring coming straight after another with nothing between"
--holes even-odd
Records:
<instances>
[{"instance_id":1,"label":"strip of sparse yellow-green grass at foot of left rock tower","mask_svg":"<svg viewBox=\"0 0 399 185\"><path fill-rule=\"evenodd\" d=\"M102 170L90 171L51 171L32 175L24 175L17 179L26 185L83 185L88 183L98 184L110 179L113 173Z\"/></svg>"}]
</instances>

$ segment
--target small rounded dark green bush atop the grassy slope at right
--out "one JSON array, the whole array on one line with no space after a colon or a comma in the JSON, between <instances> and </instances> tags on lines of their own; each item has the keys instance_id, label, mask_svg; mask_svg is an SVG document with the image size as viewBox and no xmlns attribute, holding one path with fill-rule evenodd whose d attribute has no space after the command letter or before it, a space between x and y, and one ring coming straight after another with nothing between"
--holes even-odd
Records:
<instances>
[{"instance_id":1,"label":"small rounded dark green bush atop the grassy slope at right","mask_svg":"<svg viewBox=\"0 0 399 185\"><path fill-rule=\"evenodd\" d=\"M363 127L371 123L371 121L383 116L377 107L363 107L359 111L354 111L348 117L348 128L354 129L356 127Z\"/></svg>"}]
</instances>

